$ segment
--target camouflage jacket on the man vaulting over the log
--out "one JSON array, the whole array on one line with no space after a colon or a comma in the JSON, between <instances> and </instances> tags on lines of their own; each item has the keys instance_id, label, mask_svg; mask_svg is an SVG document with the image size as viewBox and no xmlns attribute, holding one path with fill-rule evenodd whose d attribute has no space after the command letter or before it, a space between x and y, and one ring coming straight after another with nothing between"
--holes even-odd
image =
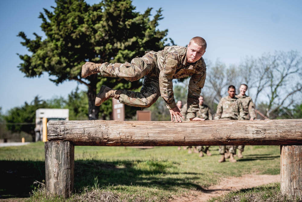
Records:
<instances>
[{"instance_id":1,"label":"camouflage jacket on the man vaulting over the log","mask_svg":"<svg viewBox=\"0 0 302 202\"><path fill-rule=\"evenodd\" d=\"M165 100L167 108L176 107L173 94L173 79L191 76L188 86L188 117L196 117L199 111L199 95L206 79L206 64L201 57L195 63L187 63L187 47L166 46L164 50L154 52L157 55L159 68L160 94Z\"/></svg>"}]
</instances>

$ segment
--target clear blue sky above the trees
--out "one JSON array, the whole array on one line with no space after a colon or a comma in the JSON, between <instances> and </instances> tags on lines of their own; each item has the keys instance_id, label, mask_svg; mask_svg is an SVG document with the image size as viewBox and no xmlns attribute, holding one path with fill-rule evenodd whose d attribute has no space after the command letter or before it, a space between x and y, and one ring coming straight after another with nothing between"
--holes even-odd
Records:
<instances>
[{"instance_id":1,"label":"clear blue sky above the trees","mask_svg":"<svg viewBox=\"0 0 302 202\"><path fill-rule=\"evenodd\" d=\"M87 0L94 4L96 0ZM207 41L206 60L219 59L226 65L238 64L245 56L260 57L263 53L297 50L302 54L302 1L178 1L134 0L137 11L152 7L153 14L162 8L164 17L159 29L168 29L168 37L185 46L195 36ZM27 78L17 66L17 56L27 53L17 37L24 31L31 39L33 33L43 36L38 18L43 8L51 10L54 0L2 0L0 2L0 107L2 113L30 103L35 96L51 99L66 97L77 86L66 81L56 86L44 73L40 78ZM84 85L79 85L85 90Z\"/></svg>"}]
</instances>

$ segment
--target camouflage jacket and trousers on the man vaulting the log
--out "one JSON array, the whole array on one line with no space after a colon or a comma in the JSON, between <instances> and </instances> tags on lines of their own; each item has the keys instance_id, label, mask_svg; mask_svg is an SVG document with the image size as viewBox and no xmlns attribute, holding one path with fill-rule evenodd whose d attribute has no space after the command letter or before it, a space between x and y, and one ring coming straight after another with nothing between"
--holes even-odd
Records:
<instances>
[{"instance_id":1,"label":"camouflage jacket and trousers on the man vaulting the log","mask_svg":"<svg viewBox=\"0 0 302 202\"><path fill-rule=\"evenodd\" d=\"M159 96L165 100L168 109L176 107L173 94L173 79L191 76L188 86L188 117L194 118L199 111L198 98L206 79L204 59L187 63L187 47L166 46L164 50L149 51L131 63L103 63L101 75L119 77L129 81L144 77L140 92L122 90L120 103L130 106L149 107Z\"/></svg>"}]
</instances>

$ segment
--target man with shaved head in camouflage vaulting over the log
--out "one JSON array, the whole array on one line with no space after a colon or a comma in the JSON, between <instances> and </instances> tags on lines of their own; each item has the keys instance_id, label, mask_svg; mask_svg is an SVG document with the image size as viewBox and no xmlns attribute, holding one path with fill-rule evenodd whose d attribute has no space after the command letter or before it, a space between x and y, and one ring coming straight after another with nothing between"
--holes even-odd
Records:
<instances>
[{"instance_id":1,"label":"man with shaved head in camouflage vaulting over the log","mask_svg":"<svg viewBox=\"0 0 302 202\"><path fill-rule=\"evenodd\" d=\"M171 121L175 119L176 122L182 122L181 118L184 119L184 116L176 106L172 80L191 76L188 85L188 117L193 121L204 120L196 117L196 112L199 111L198 97L206 79L206 64L202 58L206 48L207 43L202 37L194 37L187 47L166 46L164 50L149 51L143 57L133 58L130 63L86 62L82 66L82 77L94 73L129 81L144 77L140 92L113 90L101 86L95 105L99 106L113 97L126 105L149 107L162 96L169 109Z\"/></svg>"}]
</instances>

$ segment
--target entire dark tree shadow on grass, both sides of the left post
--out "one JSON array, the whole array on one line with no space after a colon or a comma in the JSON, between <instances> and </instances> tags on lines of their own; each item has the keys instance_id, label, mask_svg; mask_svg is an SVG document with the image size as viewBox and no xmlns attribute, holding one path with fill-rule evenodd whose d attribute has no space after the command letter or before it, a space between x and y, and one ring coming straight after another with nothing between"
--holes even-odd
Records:
<instances>
[{"instance_id":1,"label":"entire dark tree shadow on grass, both sides of the left post","mask_svg":"<svg viewBox=\"0 0 302 202\"><path fill-rule=\"evenodd\" d=\"M137 168L137 165L143 168ZM95 186L98 177L99 187L111 185L157 187L174 191L177 188L203 188L195 183L200 173L169 173L168 168L178 166L170 161L100 161L76 160L74 169L74 190L82 191ZM185 179L182 174L189 175ZM168 176L169 175L169 176ZM0 161L0 198L29 197L37 187L35 181L45 180L44 161ZM45 182L43 182L45 183Z\"/></svg>"}]
</instances>

